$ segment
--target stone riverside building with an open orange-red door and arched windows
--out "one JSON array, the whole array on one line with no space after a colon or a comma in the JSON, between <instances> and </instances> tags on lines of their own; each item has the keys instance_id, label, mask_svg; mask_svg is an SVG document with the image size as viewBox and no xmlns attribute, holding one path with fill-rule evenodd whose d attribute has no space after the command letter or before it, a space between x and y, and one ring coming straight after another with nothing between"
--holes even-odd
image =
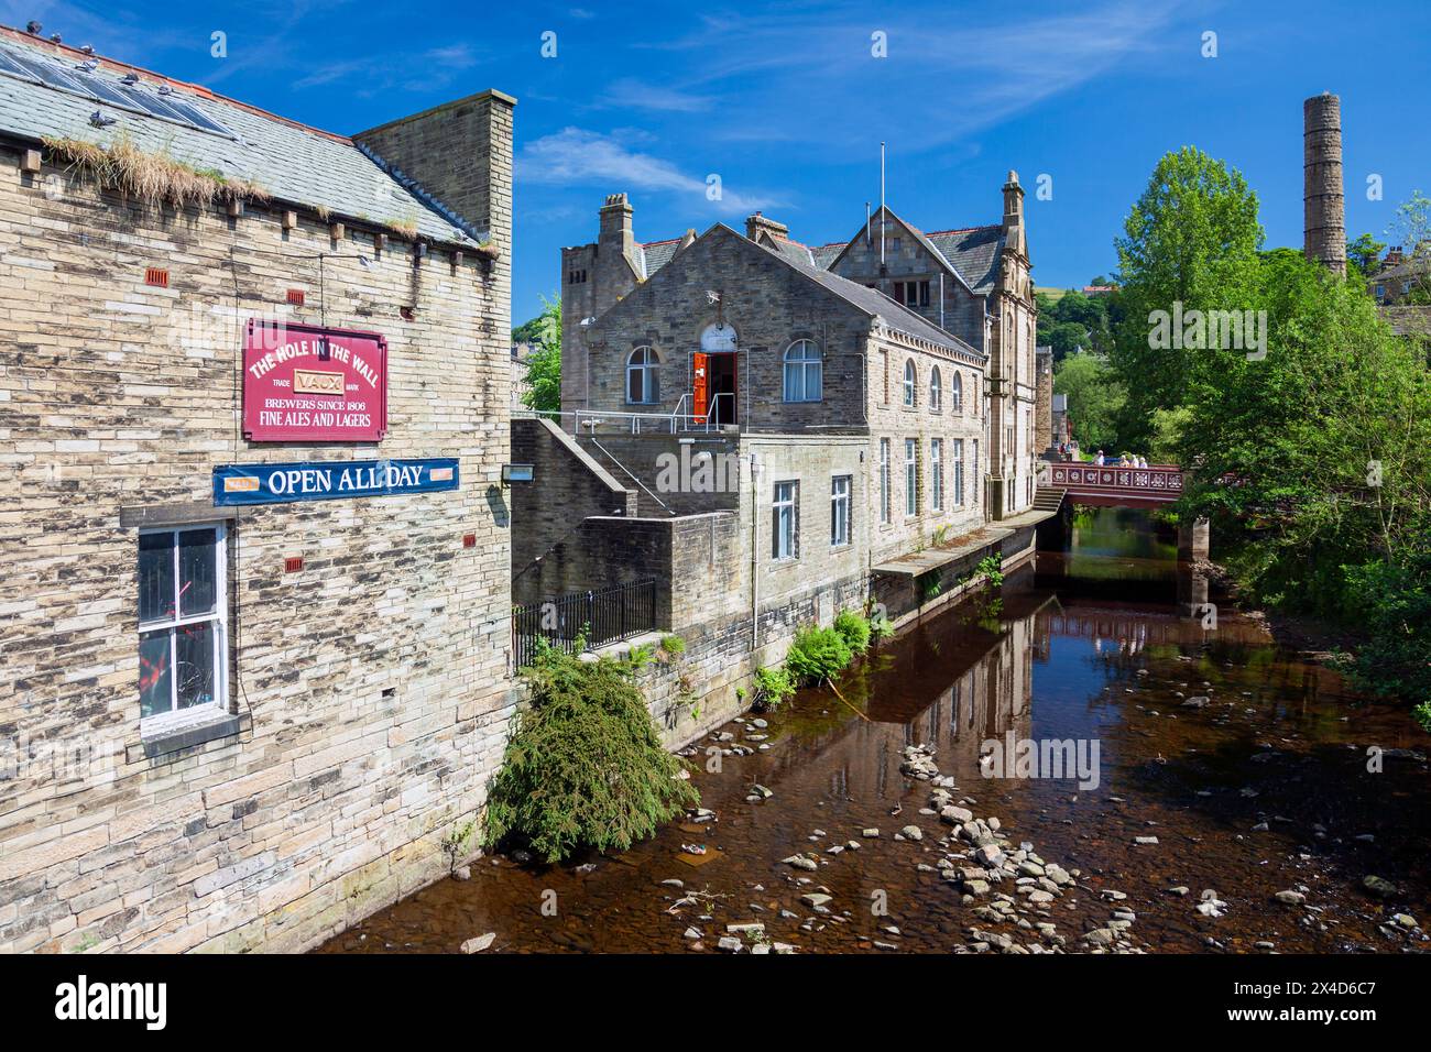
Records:
<instances>
[{"instance_id":1,"label":"stone riverside building with an open orange-red door and arched windows","mask_svg":"<svg viewBox=\"0 0 1431 1052\"><path fill-rule=\"evenodd\" d=\"M863 228L811 249L757 213L641 243L607 198L562 250L562 412L514 421L537 475L512 494L514 601L654 581L687 644L665 704L653 684L678 741L801 624L867 601L899 624L985 555L1030 554L1022 198L1010 175L1003 223L944 248L880 210L883 273Z\"/></svg>"}]
</instances>

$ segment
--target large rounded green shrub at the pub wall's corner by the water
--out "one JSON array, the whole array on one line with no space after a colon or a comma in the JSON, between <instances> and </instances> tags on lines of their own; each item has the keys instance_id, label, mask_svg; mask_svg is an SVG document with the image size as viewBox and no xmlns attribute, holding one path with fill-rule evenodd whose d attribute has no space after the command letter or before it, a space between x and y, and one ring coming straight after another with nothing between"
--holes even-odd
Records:
<instances>
[{"instance_id":1,"label":"large rounded green shrub at the pub wall's corner by the water","mask_svg":"<svg viewBox=\"0 0 1431 1052\"><path fill-rule=\"evenodd\" d=\"M532 701L492 780L488 847L517 837L547 862L581 846L627 850L700 800L661 746L630 661L544 647L521 674Z\"/></svg>"}]
</instances>

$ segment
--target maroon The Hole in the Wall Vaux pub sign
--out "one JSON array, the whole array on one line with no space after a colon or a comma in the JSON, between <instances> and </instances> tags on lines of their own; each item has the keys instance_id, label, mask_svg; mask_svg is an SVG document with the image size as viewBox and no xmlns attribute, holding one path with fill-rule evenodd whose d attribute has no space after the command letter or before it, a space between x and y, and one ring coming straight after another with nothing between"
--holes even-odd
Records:
<instances>
[{"instance_id":1,"label":"maroon The Hole in the Wall Vaux pub sign","mask_svg":"<svg viewBox=\"0 0 1431 1052\"><path fill-rule=\"evenodd\" d=\"M388 429L388 341L376 332L250 319L243 437L376 442Z\"/></svg>"}]
</instances>

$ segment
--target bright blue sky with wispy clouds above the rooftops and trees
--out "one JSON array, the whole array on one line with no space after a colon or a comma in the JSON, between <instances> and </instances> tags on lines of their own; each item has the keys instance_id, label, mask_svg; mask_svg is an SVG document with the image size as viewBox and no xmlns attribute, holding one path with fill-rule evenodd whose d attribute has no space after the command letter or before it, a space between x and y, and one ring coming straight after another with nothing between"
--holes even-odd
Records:
<instances>
[{"instance_id":1,"label":"bright blue sky with wispy clouds above the rooftops and trees","mask_svg":"<svg viewBox=\"0 0 1431 1052\"><path fill-rule=\"evenodd\" d=\"M641 240L741 229L761 209L824 243L879 199L881 139L889 203L926 230L997 222L1016 169L1035 281L1053 286L1113 269L1152 166L1189 143L1246 175L1269 245L1299 246L1301 103L1324 90L1342 96L1352 236L1381 235L1398 202L1431 193L1425 0L0 0L0 21L30 19L333 132L487 87L517 96L514 322L557 289L560 246L595 238L607 193L631 195ZM215 30L225 59L210 56ZM871 53L876 33L886 57ZM1216 57L1202 54L1205 33ZM1033 193L1040 175L1052 199ZM1382 200L1367 199L1369 175Z\"/></svg>"}]
</instances>

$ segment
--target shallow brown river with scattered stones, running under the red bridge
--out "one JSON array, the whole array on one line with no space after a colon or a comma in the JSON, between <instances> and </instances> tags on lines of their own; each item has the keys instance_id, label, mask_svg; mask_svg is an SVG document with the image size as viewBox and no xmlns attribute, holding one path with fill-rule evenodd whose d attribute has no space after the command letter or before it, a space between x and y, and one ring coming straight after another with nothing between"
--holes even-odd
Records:
<instances>
[{"instance_id":1,"label":"shallow brown river with scattered stones, running under the red bridge","mask_svg":"<svg viewBox=\"0 0 1431 1052\"><path fill-rule=\"evenodd\" d=\"M488 932L488 952L718 952L747 923L764 925L747 948L797 952L1425 949L1407 923L1431 905L1425 736L1225 604L1215 625L1179 617L1182 573L1179 585L1175 541L1143 512L1080 515L1066 550L1010 574L997 603L952 605L837 691L801 691L697 743L714 822L557 867L479 859L469 880L319 952L452 953ZM1070 741L1089 763L1010 777L1013 764L980 761L986 741L1003 756L1023 739ZM713 744L751 751L713 757ZM977 863L972 843L942 843L953 830L933 783L902 773L920 744L953 780L947 803L996 817L1005 850L1043 882L950 879ZM816 869L784 862L796 853ZM1055 867L1070 883L1049 883ZM1384 897L1368 875L1388 882ZM811 893L829 902L801 902ZM1110 920L1110 942L1090 937Z\"/></svg>"}]
</instances>

